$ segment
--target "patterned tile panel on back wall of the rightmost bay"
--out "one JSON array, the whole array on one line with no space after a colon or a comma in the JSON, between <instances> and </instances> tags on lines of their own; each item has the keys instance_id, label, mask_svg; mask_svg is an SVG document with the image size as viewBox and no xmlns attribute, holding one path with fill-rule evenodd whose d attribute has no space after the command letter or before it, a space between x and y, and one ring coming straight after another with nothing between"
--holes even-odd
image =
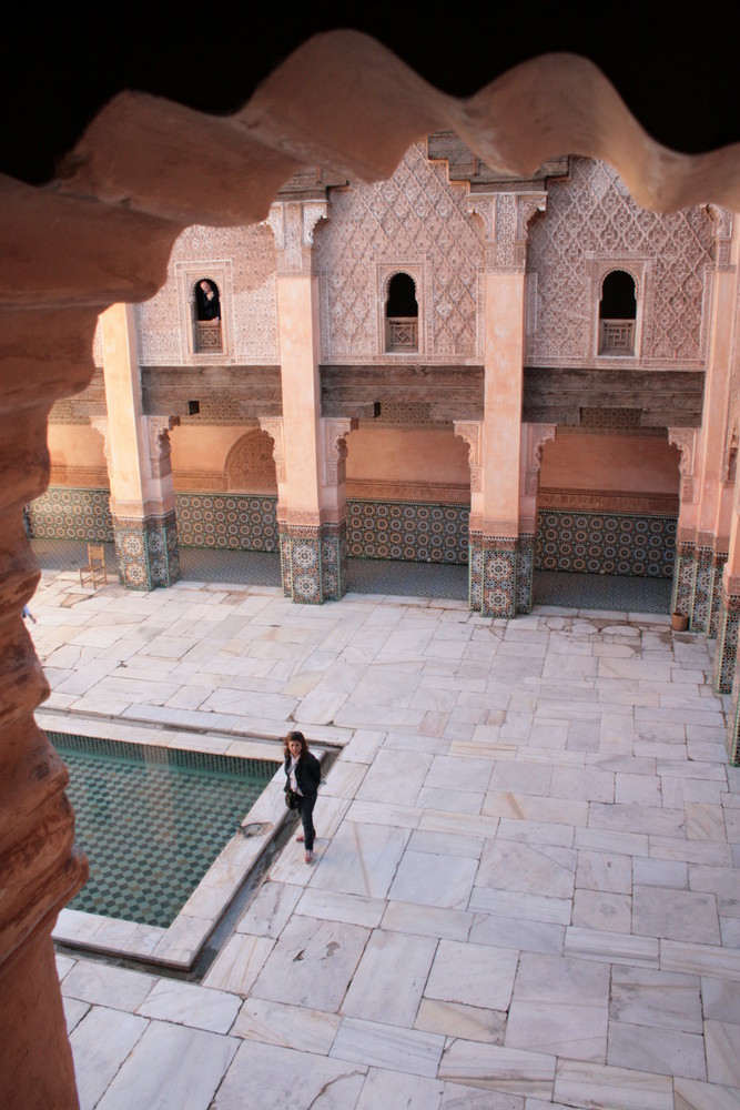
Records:
<instances>
[{"instance_id":1,"label":"patterned tile panel on back wall of the rightmost bay","mask_svg":"<svg viewBox=\"0 0 740 1110\"><path fill-rule=\"evenodd\" d=\"M535 569L670 578L676 516L540 509Z\"/></svg>"}]
</instances>

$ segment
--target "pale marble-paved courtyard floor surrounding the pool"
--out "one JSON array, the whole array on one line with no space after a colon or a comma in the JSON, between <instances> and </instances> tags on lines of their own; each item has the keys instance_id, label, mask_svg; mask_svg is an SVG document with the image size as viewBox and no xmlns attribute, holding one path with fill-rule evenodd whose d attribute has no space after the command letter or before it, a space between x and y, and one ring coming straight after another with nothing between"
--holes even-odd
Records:
<instances>
[{"instance_id":1,"label":"pale marble-paved courtyard floor surrounding the pool","mask_svg":"<svg viewBox=\"0 0 740 1110\"><path fill-rule=\"evenodd\" d=\"M740 1108L712 643L660 615L91 595L70 572L31 609L42 726L339 748L316 861L287 842L202 982L59 956L83 1108Z\"/></svg>"}]
</instances>

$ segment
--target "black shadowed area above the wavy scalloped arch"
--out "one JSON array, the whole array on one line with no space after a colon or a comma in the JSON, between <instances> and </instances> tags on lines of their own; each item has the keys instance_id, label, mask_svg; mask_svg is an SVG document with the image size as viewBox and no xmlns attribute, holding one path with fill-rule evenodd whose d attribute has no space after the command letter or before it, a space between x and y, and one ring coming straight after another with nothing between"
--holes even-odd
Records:
<instances>
[{"instance_id":1,"label":"black shadowed area above the wavy scalloped arch","mask_svg":"<svg viewBox=\"0 0 740 1110\"><path fill-rule=\"evenodd\" d=\"M365 31L436 88L465 97L511 65L549 51L596 62L642 125L676 150L698 152L740 140L740 4L693 7L564 3L506 7L449 3L283 6L58 6L6 19L0 84L0 172L40 183L95 111L130 88L209 112L232 112L311 34ZM722 10L724 9L724 10ZM586 17L586 12L589 16ZM256 14L255 14L256 13ZM20 29L20 30L19 30ZM566 153L566 152L564 152Z\"/></svg>"}]
</instances>

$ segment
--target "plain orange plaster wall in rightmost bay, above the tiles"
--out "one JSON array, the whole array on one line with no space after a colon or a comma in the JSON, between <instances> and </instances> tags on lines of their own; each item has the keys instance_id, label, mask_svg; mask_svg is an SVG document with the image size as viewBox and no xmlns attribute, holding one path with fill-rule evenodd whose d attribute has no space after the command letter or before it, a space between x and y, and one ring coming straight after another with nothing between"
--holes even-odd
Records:
<instances>
[{"instance_id":1,"label":"plain orange plaster wall in rightmost bay, above the tiles","mask_svg":"<svg viewBox=\"0 0 740 1110\"><path fill-rule=\"evenodd\" d=\"M678 495L678 464L667 437L560 432L543 448L539 487Z\"/></svg>"}]
</instances>

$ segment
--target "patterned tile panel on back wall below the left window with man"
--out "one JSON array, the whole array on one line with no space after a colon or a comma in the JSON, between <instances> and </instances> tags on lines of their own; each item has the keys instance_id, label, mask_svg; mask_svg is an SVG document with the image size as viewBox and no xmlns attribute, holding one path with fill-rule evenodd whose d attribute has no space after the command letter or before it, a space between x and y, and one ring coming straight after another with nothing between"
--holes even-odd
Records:
<instances>
[{"instance_id":1,"label":"patterned tile panel on back wall below the left window with man","mask_svg":"<svg viewBox=\"0 0 740 1110\"><path fill-rule=\"evenodd\" d=\"M276 552L277 497L261 494L179 493L178 533L183 547Z\"/></svg>"}]
</instances>

